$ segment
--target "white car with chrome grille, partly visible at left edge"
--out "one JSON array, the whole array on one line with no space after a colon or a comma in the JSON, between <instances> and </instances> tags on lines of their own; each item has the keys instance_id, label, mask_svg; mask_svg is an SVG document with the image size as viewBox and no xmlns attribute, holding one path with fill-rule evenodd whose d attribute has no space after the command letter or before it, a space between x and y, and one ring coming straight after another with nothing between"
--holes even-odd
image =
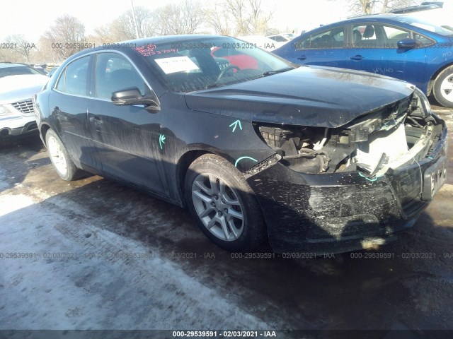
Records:
<instances>
[{"instance_id":1,"label":"white car with chrome grille, partly visible at left edge","mask_svg":"<svg viewBox=\"0 0 453 339\"><path fill-rule=\"evenodd\" d=\"M0 138L38 129L32 96L48 80L30 66L0 63Z\"/></svg>"}]
</instances>

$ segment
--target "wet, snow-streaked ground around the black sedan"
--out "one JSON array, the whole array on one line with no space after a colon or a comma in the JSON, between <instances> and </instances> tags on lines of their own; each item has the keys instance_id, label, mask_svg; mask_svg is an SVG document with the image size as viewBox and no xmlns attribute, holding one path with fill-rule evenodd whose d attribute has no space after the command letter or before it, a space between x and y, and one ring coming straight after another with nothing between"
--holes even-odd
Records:
<instances>
[{"instance_id":1,"label":"wet, snow-streaked ground around the black sedan","mask_svg":"<svg viewBox=\"0 0 453 339\"><path fill-rule=\"evenodd\" d=\"M447 184L396 242L334 258L231 258L182 208L64 182L38 136L3 142L0 330L453 329L453 112L438 112Z\"/></svg>"}]
</instances>

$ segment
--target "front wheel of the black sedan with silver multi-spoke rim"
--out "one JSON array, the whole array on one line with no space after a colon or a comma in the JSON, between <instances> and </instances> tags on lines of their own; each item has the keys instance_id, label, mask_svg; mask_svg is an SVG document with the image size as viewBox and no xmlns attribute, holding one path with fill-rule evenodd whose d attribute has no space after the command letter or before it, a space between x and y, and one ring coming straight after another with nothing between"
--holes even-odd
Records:
<instances>
[{"instance_id":1,"label":"front wheel of the black sedan with silver multi-spoke rim","mask_svg":"<svg viewBox=\"0 0 453 339\"><path fill-rule=\"evenodd\" d=\"M185 176L185 201L202 232L228 251L265 239L263 214L241 172L218 155L197 158Z\"/></svg>"}]
</instances>

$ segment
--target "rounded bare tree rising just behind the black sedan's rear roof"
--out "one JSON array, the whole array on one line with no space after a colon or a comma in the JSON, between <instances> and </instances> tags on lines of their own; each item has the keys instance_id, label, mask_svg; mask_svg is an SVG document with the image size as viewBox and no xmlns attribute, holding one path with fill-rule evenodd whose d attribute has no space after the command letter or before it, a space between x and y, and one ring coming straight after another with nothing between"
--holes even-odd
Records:
<instances>
[{"instance_id":1,"label":"rounded bare tree rising just behind the black sedan's rear roof","mask_svg":"<svg viewBox=\"0 0 453 339\"><path fill-rule=\"evenodd\" d=\"M67 59L85 48L85 26L78 18L64 14L55 20L55 24L44 33L41 41L43 44L50 44L60 59Z\"/></svg>"}]
</instances>

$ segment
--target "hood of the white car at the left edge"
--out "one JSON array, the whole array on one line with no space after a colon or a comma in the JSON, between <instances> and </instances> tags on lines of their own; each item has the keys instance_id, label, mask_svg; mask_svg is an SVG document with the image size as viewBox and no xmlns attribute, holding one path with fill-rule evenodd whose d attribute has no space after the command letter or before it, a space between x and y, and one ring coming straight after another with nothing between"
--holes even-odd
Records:
<instances>
[{"instance_id":1,"label":"hood of the white car at the left edge","mask_svg":"<svg viewBox=\"0 0 453 339\"><path fill-rule=\"evenodd\" d=\"M49 81L48 76L24 74L0 78L0 104L30 100Z\"/></svg>"}]
</instances>

